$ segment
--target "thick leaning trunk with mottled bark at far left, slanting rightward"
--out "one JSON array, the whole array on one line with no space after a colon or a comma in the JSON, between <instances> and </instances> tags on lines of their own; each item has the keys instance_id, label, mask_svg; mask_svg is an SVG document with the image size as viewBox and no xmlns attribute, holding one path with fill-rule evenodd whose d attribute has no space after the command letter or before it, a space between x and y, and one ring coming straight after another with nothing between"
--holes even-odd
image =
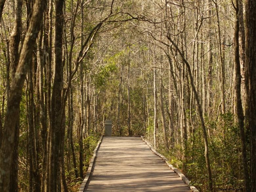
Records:
<instances>
[{"instance_id":1,"label":"thick leaning trunk with mottled bark at far left, slanting rightward","mask_svg":"<svg viewBox=\"0 0 256 192\"><path fill-rule=\"evenodd\" d=\"M17 70L12 82L4 125L4 135L9 135L9 137L3 138L0 149L0 191L9 190L11 168L10 151L13 151L14 147L15 125L19 114L22 87L29 64L31 63L32 49L39 32L45 3L45 1L35 1L28 32L23 43Z\"/></svg>"}]
</instances>

